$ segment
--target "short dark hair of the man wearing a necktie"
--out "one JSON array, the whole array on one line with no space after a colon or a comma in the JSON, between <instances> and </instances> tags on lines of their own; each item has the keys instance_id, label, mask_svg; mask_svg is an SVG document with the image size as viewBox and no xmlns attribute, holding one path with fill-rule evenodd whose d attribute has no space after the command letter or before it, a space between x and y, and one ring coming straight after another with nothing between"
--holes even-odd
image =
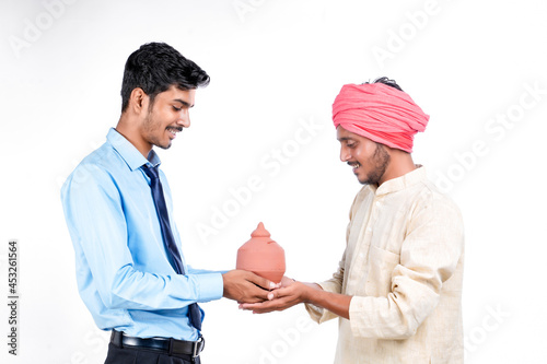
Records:
<instances>
[{"instance_id":1,"label":"short dark hair of the man wearing a necktie","mask_svg":"<svg viewBox=\"0 0 547 364\"><path fill-rule=\"evenodd\" d=\"M140 87L154 103L158 94L171 86L193 90L207 86L210 78L198 64L165 43L147 43L127 59L121 82L121 113L129 105L131 92Z\"/></svg>"}]
</instances>

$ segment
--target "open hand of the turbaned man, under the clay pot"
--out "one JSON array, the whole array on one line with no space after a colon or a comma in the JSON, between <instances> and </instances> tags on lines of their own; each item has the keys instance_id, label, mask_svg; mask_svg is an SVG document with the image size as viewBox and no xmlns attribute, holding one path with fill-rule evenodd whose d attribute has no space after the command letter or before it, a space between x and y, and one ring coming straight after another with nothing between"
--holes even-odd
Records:
<instances>
[{"instance_id":1,"label":"open hand of the turbaned man, under the clay pot","mask_svg":"<svg viewBox=\"0 0 547 364\"><path fill-rule=\"evenodd\" d=\"M283 277L281 287L270 292L269 301L261 303L241 304L240 308L253 310L254 314L266 314L274 310L284 310L289 307L307 302L311 290L316 290L313 285L295 282Z\"/></svg>"}]
</instances>

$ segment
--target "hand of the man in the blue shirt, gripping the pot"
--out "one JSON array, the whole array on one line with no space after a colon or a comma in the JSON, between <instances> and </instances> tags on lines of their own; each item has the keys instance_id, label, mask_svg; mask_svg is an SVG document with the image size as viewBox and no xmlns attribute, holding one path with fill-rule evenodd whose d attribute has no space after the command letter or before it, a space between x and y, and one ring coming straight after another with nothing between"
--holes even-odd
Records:
<instances>
[{"instance_id":1,"label":"hand of the man in the blue shirt, gripping the pot","mask_svg":"<svg viewBox=\"0 0 547 364\"><path fill-rule=\"evenodd\" d=\"M279 285L253 272L231 270L222 274L223 296L238 303L258 303L269 300L270 290Z\"/></svg>"}]
</instances>

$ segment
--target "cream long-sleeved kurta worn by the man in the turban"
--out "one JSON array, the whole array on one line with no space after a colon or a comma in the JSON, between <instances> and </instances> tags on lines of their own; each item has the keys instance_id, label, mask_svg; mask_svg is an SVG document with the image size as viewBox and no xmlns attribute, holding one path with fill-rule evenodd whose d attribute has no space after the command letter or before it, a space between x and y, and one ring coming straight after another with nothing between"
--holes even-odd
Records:
<instances>
[{"instance_id":1,"label":"cream long-sleeved kurta worn by the man in the turban","mask_svg":"<svg viewBox=\"0 0 547 364\"><path fill-rule=\"evenodd\" d=\"M351 207L338 271L319 283L353 296L339 318L335 363L463 363L463 224L423 167L375 188ZM306 305L316 321L335 314Z\"/></svg>"}]
</instances>

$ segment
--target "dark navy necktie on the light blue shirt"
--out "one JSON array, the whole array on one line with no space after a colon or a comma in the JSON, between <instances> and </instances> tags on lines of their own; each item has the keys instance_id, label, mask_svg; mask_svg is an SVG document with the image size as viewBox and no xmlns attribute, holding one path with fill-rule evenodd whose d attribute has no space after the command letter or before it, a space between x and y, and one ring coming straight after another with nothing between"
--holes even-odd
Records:
<instances>
[{"instance_id":1,"label":"dark navy necktie on the light blue shirt","mask_svg":"<svg viewBox=\"0 0 547 364\"><path fill-rule=\"evenodd\" d=\"M173 269L177 274L184 274L184 266L181 259L181 253L175 244L175 238L173 237L173 232L171 231L170 216L167 214L167 207L165 206L165 197L163 196L163 187L160 181L160 174L158 166L155 167L143 167L144 173L150 177L150 188L152 189L152 198L154 199L155 211L158 212L158 218L160 219L160 227L162 230L163 244L171 256L171 262ZM201 312L197 303L193 303L188 306L188 316L190 319L190 325L196 329L201 330Z\"/></svg>"}]
</instances>

